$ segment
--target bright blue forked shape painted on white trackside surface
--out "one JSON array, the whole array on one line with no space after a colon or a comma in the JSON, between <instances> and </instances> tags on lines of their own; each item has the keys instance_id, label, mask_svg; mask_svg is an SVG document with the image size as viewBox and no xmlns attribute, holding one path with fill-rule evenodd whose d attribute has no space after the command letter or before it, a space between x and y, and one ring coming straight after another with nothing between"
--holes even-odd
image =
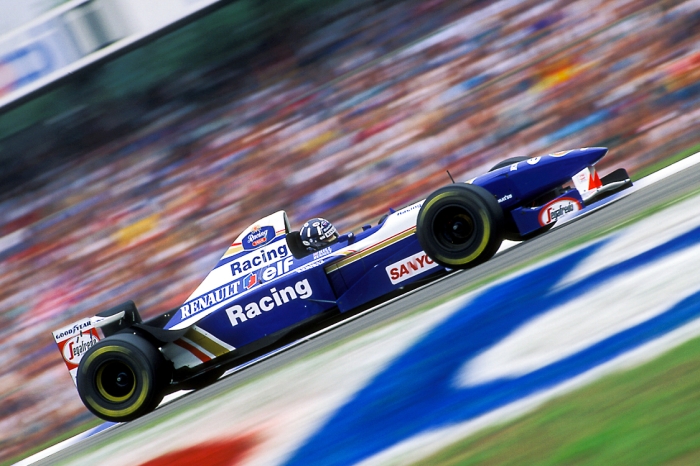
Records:
<instances>
[{"instance_id":1,"label":"bright blue forked shape painted on white trackside surface","mask_svg":"<svg viewBox=\"0 0 700 466\"><path fill-rule=\"evenodd\" d=\"M700 292L631 328L522 376L457 386L463 365L522 324L700 243L696 228L579 282L560 279L608 240L494 285L399 356L342 406L289 465L353 464L427 431L473 420L571 380L700 316Z\"/></svg>"}]
</instances>

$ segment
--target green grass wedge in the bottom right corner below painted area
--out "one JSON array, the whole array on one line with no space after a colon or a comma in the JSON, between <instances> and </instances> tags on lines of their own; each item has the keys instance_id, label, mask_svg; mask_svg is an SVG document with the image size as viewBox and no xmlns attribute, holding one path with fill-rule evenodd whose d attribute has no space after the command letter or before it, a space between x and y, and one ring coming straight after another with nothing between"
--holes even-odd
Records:
<instances>
[{"instance_id":1,"label":"green grass wedge in the bottom right corner below painted area","mask_svg":"<svg viewBox=\"0 0 700 466\"><path fill-rule=\"evenodd\" d=\"M419 465L700 464L700 338Z\"/></svg>"}]
</instances>

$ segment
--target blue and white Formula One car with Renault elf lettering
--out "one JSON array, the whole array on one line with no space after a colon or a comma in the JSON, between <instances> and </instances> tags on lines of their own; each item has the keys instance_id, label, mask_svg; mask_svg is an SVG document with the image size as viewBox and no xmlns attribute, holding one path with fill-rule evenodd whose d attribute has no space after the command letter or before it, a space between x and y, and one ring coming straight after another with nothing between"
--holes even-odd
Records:
<instances>
[{"instance_id":1,"label":"blue and white Formula One car with Renault elf lettering","mask_svg":"<svg viewBox=\"0 0 700 466\"><path fill-rule=\"evenodd\" d=\"M135 419L164 395L216 380L292 330L473 267L503 239L534 237L631 186L624 169L599 178L593 165L606 153L593 147L504 160L358 234L338 236L323 219L292 231L279 211L246 228L179 308L142 322L129 301L54 338L85 406L103 419Z\"/></svg>"}]
</instances>

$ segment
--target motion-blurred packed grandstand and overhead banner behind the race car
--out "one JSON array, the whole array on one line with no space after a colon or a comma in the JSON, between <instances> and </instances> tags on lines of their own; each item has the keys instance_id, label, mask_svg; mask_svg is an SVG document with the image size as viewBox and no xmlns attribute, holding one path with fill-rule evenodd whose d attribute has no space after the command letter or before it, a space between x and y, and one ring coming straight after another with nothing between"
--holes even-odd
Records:
<instances>
[{"instance_id":1,"label":"motion-blurred packed grandstand and overhead banner behind the race car","mask_svg":"<svg viewBox=\"0 0 700 466\"><path fill-rule=\"evenodd\" d=\"M180 305L269 213L700 150L699 39L699 0L0 0L0 461L96 422L51 330Z\"/></svg>"}]
</instances>

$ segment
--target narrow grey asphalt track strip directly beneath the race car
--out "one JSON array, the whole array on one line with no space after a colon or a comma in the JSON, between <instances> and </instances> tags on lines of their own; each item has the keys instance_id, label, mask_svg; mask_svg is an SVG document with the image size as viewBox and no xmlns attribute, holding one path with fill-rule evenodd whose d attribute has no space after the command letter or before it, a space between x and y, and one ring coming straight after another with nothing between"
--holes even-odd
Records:
<instances>
[{"instance_id":1,"label":"narrow grey asphalt track strip directly beneath the race car","mask_svg":"<svg viewBox=\"0 0 700 466\"><path fill-rule=\"evenodd\" d=\"M217 396L222 392L233 389L242 382L275 371L277 368L303 358L312 352L321 350L338 340L351 337L365 329L400 317L402 314L410 313L416 307L444 298L470 283L478 283L499 273L512 270L514 267L524 266L538 259L546 258L547 255L559 252L567 245L575 244L577 241L583 242L590 238L591 235L615 228L629 219L644 214L653 206L662 205L690 195L698 188L700 188L700 164L686 168L657 183L632 192L628 196L611 202L588 215L581 216L565 225L554 228L538 238L517 244L474 269L448 275L440 281L410 293L410 295L405 295L385 305L373 308L359 318L347 321L272 358L229 375L205 389L183 396L143 418L114 426L34 464L50 465L58 461L69 460L75 454L91 450L99 444L110 442L116 435L142 429L146 424L157 423L173 411L186 410L188 405ZM664 226L659 225L658 228L664 228Z\"/></svg>"}]
</instances>

